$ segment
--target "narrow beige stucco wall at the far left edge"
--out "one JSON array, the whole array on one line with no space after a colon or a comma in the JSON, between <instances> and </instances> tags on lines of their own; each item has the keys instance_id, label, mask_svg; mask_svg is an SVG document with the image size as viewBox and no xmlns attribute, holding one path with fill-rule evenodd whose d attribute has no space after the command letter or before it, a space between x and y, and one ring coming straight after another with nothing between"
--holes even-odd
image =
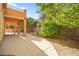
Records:
<instances>
[{"instance_id":1,"label":"narrow beige stucco wall at the far left edge","mask_svg":"<svg viewBox=\"0 0 79 59\"><path fill-rule=\"evenodd\" d=\"M3 36L4 36L4 17L3 17L2 4L0 4L0 44Z\"/></svg>"}]
</instances>

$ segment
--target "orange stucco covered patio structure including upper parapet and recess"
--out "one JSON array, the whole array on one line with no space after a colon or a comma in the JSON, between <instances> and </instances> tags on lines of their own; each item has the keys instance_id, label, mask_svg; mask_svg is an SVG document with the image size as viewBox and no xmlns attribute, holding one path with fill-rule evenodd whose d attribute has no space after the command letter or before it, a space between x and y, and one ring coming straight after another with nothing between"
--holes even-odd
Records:
<instances>
[{"instance_id":1,"label":"orange stucco covered patio structure including upper parapet and recess","mask_svg":"<svg viewBox=\"0 0 79 59\"><path fill-rule=\"evenodd\" d=\"M5 34L26 33L26 10L17 10L3 4ZM20 30L20 26L22 27Z\"/></svg>"}]
</instances>

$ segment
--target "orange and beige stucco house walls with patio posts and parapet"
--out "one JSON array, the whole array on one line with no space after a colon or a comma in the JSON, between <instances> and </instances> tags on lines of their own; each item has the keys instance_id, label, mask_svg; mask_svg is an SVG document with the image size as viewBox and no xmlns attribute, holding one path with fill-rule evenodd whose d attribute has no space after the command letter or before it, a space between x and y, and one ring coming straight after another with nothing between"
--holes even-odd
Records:
<instances>
[{"instance_id":1,"label":"orange and beige stucco house walls with patio posts and parapet","mask_svg":"<svg viewBox=\"0 0 79 59\"><path fill-rule=\"evenodd\" d=\"M26 14L25 10L8 8L6 3L0 3L0 42L5 32L13 30L6 29L6 24L13 24L15 30L19 32L19 23L23 22L23 33L26 33Z\"/></svg>"}]
</instances>

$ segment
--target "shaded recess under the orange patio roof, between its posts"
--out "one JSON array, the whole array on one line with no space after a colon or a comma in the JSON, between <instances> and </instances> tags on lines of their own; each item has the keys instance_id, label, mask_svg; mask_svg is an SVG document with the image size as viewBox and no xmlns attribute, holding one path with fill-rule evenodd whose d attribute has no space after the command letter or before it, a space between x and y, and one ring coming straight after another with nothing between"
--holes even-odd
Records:
<instances>
[{"instance_id":1,"label":"shaded recess under the orange patio roof, between its posts","mask_svg":"<svg viewBox=\"0 0 79 59\"><path fill-rule=\"evenodd\" d=\"M24 32L24 21L20 19L5 17L5 35L20 34Z\"/></svg>"}]
</instances>

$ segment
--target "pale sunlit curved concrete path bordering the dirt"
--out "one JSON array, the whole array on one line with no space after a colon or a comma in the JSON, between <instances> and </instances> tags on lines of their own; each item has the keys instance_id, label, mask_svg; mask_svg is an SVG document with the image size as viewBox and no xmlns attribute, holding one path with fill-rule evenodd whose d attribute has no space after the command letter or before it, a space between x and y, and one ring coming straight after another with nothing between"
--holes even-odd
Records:
<instances>
[{"instance_id":1,"label":"pale sunlit curved concrete path bordering the dirt","mask_svg":"<svg viewBox=\"0 0 79 59\"><path fill-rule=\"evenodd\" d=\"M27 34L26 37L21 36L22 38L30 38L29 40L32 41L37 47L43 50L48 56L58 56L55 47L44 38L39 38L37 36Z\"/></svg>"}]
</instances>

